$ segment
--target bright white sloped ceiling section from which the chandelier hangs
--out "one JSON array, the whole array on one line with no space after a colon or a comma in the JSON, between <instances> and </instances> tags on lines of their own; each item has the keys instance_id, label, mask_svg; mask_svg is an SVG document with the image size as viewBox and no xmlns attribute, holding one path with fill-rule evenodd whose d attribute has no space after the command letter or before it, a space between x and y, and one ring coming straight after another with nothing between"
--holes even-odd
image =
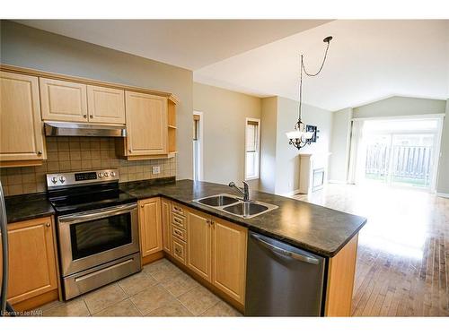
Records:
<instances>
[{"instance_id":1,"label":"bright white sloped ceiling section from which the chandelier hangs","mask_svg":"<svg viewBox=\"0 0 449 336\"><path fill-rule=\"evenodd\" d=\"M391 96L449 98L449 21L338 20L194 72L195 82L261 97L298 99L299 56L318 77L304 78L304 102L331 111Z\"/></svg>"}]
</instances>

